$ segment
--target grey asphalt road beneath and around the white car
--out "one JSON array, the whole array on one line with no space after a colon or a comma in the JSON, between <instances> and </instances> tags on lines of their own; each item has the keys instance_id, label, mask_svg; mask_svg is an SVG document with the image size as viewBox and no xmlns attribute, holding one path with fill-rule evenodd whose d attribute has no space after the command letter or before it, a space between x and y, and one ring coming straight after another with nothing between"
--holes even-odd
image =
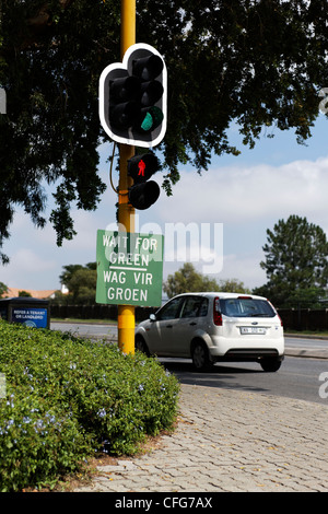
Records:
<instances>
[{"instance_id":1,"label":"grey asphalt road beneath and around the white car","mask_svg":"<svg viewBox=\"0 0 328 514\"><path fill-rule=\"evenodd\" d=\"M113 339L117 337L115 325L54 322L51 328L90 337ZM292 349L297 355L297 349L302 354L308 349L327 350L328 340L286 337L285 347ZM323 373L327 373L328 377L328 359L286 357L277 373L265 373L259 364L253 362L216 363L210 372L197 373L194 371L191 360L161 359L160 361L168 371L175 373L183 384L267 393L328 405L328 398L320 396L320 390L323 392L323 386L325 386L320 377L324 376ZM328 386L324 392L328 392Z\"/></svg>"}]
</instances>

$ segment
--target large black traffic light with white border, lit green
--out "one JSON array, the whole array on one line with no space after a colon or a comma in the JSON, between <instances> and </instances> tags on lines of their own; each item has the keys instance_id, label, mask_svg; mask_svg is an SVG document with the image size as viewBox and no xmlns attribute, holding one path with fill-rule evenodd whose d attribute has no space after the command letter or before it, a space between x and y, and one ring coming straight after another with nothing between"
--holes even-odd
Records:
<instances>
[{"instance_id":1,"label":"large black traffic light with white border, lit green","mask_svg":"<svg viewBox=\"0 0 328 514\"><path fill-rule=\"evenodd\" d=\"M138 43L122 63L107 66L99 79L99 117L117 142L155 147L166 131L167 73L163 57Z\"/></svg>"}]
</instances>

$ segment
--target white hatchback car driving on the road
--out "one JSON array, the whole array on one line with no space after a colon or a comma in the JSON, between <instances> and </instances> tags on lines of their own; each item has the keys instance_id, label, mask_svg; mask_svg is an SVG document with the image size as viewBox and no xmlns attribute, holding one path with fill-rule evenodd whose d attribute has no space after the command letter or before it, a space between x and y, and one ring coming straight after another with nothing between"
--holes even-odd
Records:
<instances>
[{"instance_id":1,"label":"white hatchback car driving on the road","mask_svg":"<svg viewBox=\"0 0 328 514\"><path fill-rule=\"evenodd\" d=\"M283 360L284 337L276 308L262 296L185 293L138 325L136 349L191 358L199 371L218 361L257 361L274 372Z\"/></svg>"}]
</instances>

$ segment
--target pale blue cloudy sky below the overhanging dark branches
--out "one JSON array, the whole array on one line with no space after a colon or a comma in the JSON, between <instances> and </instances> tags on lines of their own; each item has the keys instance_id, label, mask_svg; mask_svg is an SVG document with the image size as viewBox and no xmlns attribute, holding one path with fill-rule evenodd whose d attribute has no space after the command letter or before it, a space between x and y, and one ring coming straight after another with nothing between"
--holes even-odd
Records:
<instances>
[{"instance_id":1,"label":"pale blue cloudy sky below the overhanging dark branches","mask_svg":"<svg viewBox=\"0 0 328 514\"><path fill-rule=\"evenodd\" d=\"M136 232L164 234L163 279L185 260L215 280L237 279L253 289L266 283L260 261L267 230L291 214L306 217L328 235L328 119L319 114L313 136L300 145L293 130L265 135L253 150L242 144L238 127L230 131L230 142L242 154L214 157L200 176L191 165L180 167L174 194L162 190L148 210L137 211ZM0 282L10 288L60 289L62 267L96 260L97 230L115 226L117 196L108 179L112 144L99 148L99 176L108 185L96 211L73 209L78 235L56 245L50 223L34 227L17 208L11 237L3 246L10 264L0 265ZM161 185L162 175L153 177ZM117 172L113 174L117 185ZM54 190L54 189L52 189ZM47 189L51 210L51 190Z\"/></svg>"}]
</instances>

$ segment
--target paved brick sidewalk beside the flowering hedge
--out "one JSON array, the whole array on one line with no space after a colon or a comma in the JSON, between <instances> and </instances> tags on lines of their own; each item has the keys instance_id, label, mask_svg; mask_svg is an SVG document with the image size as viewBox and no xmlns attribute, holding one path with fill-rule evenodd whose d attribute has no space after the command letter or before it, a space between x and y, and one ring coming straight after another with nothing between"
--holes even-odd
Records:
<instances>
[{"instance_id":1,"label":"paved brick sidewalk beside the flowering hedge","mask_svg":"<svg viewBox=\"0 0 328 514\"><path fill-rule=\"evenodd\" d=\"M98 470L75 492L328 491L328 400L181 385L176 431Z\"/></svg>"}]
</instances>

